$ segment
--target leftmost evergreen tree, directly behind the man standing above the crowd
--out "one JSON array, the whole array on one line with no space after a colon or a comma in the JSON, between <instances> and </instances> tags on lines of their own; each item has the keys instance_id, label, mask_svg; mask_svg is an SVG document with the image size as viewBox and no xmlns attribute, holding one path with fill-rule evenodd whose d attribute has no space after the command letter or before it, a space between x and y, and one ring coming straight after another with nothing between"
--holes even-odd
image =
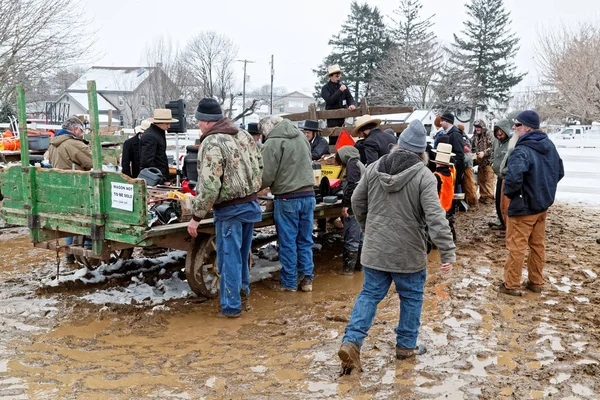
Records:
<instances>
[{"instance_id":1,"label":"leftmost evergreen tree, directly behind the man standing above the crowd","mask_svg":"<svg viewBox=\"0 0 600 400\"><path fill-rule=\"evenodd\" d=\"M320 98L321 86L329 80L324 76L327 66L332 64L339 64L342 68L342 81L352 89L356 101L363 95L368 96L373 72L391 44L379 9L371 8L367 3L358 4L353 1L350 15L342 29L329 40L333 52L325 57L319 69L315 70L319 76L319 82L315 86L318 92L315 93L315 98Z\"/></svg>"}]
</instances>

